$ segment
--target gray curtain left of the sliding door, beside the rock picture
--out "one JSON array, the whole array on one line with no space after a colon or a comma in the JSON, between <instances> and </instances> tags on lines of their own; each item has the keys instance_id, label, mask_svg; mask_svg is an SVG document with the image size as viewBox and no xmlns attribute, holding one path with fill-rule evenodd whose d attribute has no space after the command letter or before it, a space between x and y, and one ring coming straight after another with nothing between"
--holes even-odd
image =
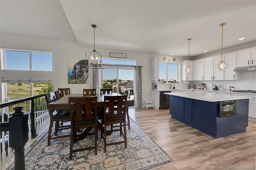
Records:
<instances>
[{"instance_id":1,"label":"gray curtain left of the sliding door, beside the rock picture","mask_svg":"<svg viewBox=\"0 0 256 170\"><path fill-rule=\"evenodd\" d=\"M93 88L96 89L96 94L102 89L102 67L93 68Z\"/></svg>"}]
</instances>

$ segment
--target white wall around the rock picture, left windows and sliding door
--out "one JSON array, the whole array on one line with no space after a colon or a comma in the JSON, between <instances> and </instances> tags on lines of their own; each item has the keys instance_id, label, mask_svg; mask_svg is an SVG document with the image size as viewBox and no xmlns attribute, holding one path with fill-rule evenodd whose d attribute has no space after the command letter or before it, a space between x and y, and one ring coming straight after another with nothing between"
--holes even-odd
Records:
<instances>
[{"instance_id":1,"label":"white wall around the rock picture, left windows and sliding door","mask_svg":"<svg viewBox=\"0 0 256 170\"><path fill-rule=\"evenodd\" d=\"M92 48L80 47L76 42L57 41L51 39L34 38L28 36L17 36L10 34L0 35L0 48L20 49L31 51L45 51L53 54L53 71L45 72L38 75L26 71L4 71L1 70L0 78L5 77L21 77L21 78L52 78L54 91L62 87L70 87L71 93L82 93L82 89L92 88L92 73L89 70L89 84L68 84L68 59L85 59L85 52L91 51ZM107 58L110 52L118 52L114 50L97 49L102 53L102 57ZM135 53L128 51L119 51L126 53L127 59L136 60L136 65L142 67L142 100L150 100L150 59L164 56L152 55L146 53ZM173 57L172 57L173 58ZM182 58L176 58L176 63L180 63ZM38 77L39 76L39 77ZM2 85L1 85L2 86ZM3 88L3 87L1 87ZM3 94L1 96L4 96ZM2 100L1 100L2 101ZM142 102L143 102L142 101Z\"/></svg>"}]
</instances>

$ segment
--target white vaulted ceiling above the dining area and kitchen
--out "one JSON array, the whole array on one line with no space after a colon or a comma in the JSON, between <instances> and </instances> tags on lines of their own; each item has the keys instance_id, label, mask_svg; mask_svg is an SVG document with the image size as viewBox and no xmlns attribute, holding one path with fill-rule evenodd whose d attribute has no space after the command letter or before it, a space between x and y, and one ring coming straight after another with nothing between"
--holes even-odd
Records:
<instances>
[{"instance_id":1,"label":"white vaulted ceiling above the dining area and kitchen","mask_svg":"<svg viewBox=\"0 0 256 170\"><path fill-rule=\"evenodd\" d=\"M1 0L0 32L186 57L256 42L255 0ZM238 40L246 38L245 40ZM225 51L224 51L225 52Z\"/></svg>"}]
</instances>

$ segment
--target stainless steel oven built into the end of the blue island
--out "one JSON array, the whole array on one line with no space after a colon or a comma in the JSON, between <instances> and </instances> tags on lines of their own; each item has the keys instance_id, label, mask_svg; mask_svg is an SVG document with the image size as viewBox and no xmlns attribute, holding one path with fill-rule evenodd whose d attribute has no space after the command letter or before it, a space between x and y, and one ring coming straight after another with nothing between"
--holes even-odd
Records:
<instances>
[{"instance_id":1,"label":"stainless steel oven built into the end of the blue island","mask_svg":"<svg viewBox=\"0 0 256 170\"><path fill-rule=\"evenodd\" d=\"M218 117L228 117L236 115L236 100L221 101L220 115Z\"/></svg>"}]
</instances>

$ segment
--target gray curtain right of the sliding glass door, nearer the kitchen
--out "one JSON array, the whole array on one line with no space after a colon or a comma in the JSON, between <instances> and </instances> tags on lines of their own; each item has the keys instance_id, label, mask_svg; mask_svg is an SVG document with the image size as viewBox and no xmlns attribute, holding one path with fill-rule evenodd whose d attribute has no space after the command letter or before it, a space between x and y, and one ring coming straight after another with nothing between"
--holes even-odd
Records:
<instances>
[{"instance_id":1,"label":"gray curtain right of the sliding glass door, nearer the kitchen","mask_svg":"<svg viewBox=\"0 0 256 170\"><path fill-rule=\"evenodd\" d=\"M142 66L134 66L133 91L134 91L134 107L142 109Z\"/></svg>"}]
</instances>

